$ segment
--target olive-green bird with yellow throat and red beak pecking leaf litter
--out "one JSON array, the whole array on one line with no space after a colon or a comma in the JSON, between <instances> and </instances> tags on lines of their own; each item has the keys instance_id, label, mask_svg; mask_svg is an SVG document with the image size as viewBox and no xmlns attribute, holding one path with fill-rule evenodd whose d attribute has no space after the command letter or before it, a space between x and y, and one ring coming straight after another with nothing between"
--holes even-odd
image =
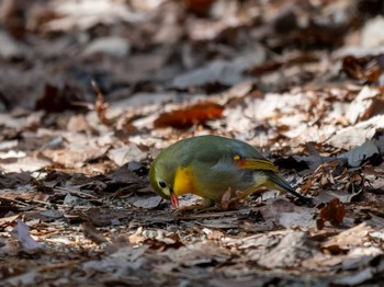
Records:
<instances>
[{"instance_id":1,"label":"olive-green bird with yellow throat and red beak pecking leaf litter","mask_svg":"<svg viewBox=\"0 0 384 287\"><path fill-rule=\"evenodd\" d=\"M230 197L246 197L267 188L287 192L302 202L312 199L297 193L278 174L278 168L252 146L222 136L206 135L179 140L153 161L149 182L162 198L179 207L179 196L194 194L219 204L226 191Z\"/></svg>"}]
</instances>

